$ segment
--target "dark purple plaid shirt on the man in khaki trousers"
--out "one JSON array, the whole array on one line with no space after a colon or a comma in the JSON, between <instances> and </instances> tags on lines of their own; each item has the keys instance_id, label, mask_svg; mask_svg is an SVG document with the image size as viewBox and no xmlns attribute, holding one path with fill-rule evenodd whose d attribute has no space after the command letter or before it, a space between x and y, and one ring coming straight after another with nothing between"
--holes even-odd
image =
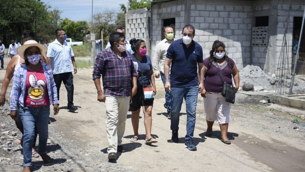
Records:
<instances>
[{"instance_id":1,"label":"dark purple plaid shirt on the man in khaki trousers","mask_svg":"<svg viewBox=\"0 0 305 172\"><path fill-rule=\"evenodd\" d=\"M117 97L128 97L131 95L131 81L137 76L132 62L131 54L124 51L122 59L109 47L100 52L93 68L93 80L103 80L104 94Z\"/></svg>"}]
</instances>

